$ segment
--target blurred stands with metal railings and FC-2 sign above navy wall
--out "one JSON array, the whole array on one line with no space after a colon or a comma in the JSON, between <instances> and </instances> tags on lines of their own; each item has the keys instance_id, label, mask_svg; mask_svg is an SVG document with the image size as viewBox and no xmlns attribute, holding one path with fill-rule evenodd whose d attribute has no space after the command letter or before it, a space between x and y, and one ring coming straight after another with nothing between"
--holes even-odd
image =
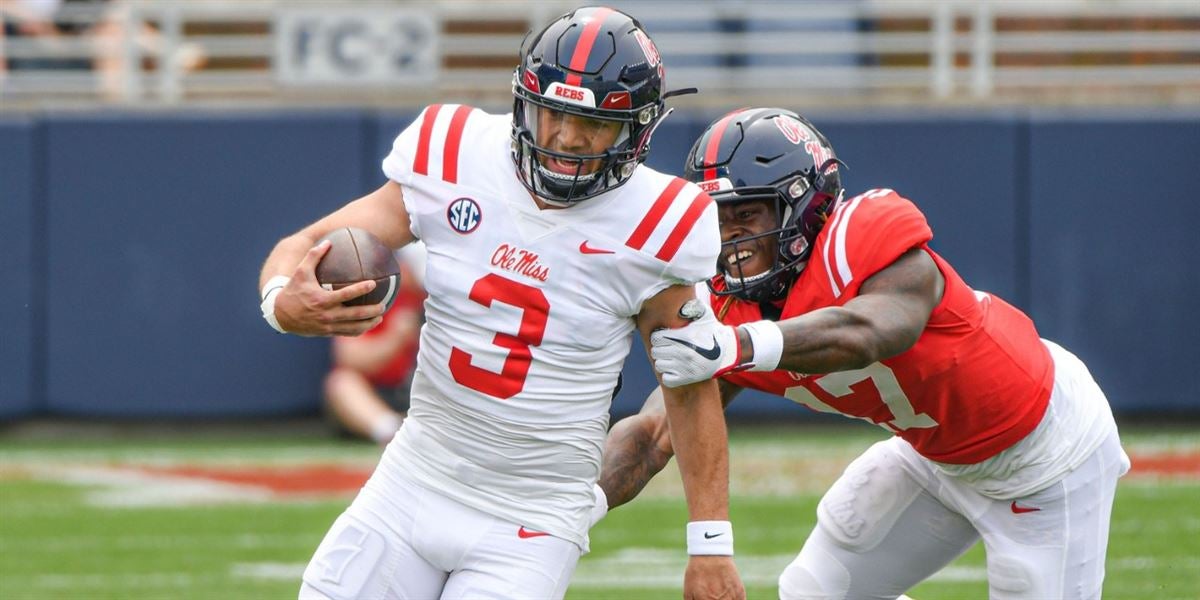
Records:
<instances>
[{"instance_id":1,"label":"blurred stands with metal railings and FC-2 sign above navy wall","mask_svg":"<svg viewBox=\"0 0 1200 600\"><path fill-rule=\"evenodd\" d=\"M1194 0L612 4L649 30L672 86L701 88L689 102L1200 104ZM500 106L526 31L576 5L68 4L55 20L79 32L0 38L0 108Z\"/></svg>"}]
</instances>

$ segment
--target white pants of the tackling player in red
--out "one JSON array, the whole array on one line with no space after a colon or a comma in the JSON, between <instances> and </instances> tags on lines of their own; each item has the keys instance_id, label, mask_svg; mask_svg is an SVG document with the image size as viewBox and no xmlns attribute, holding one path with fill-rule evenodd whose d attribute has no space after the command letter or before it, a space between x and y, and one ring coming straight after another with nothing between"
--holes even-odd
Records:
<instances>
[{"instance_id":1,"label":"white pants of the tackling player in red","mask_svg":"<svg viewBox=\"0 0 1200 600\"><path fill-rule=\"evenodd\" d=\"M1056 370L1055 394L1090 395L1097 414L1111 422L1082 362L1056 358ZM900 438L880 442L821 499L817 527L780 576L779 596L896 598L983 538L989 598L1099 598L1112 499L1128 470L1111 426L1064 476L1001 500L947 474Z\"/></svg>"}]
</instances>

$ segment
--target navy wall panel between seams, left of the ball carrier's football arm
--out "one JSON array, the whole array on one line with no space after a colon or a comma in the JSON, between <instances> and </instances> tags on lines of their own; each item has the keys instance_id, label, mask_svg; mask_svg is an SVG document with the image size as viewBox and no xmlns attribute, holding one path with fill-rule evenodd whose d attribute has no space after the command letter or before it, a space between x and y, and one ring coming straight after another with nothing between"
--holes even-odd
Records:
<instances>
[{"instance_id":1,"label":"navy wall panel between seams, left of the ball carrier's football arm","mask_svg":"<svg viewBox=\"0 0 1200 600\"><path fill-rule=\"evenodd\" d=\"M46 127L47 410L312 412L328 344L251 326L254 288L278 238L362 190L366 119L106 115Z\"/></svg>"}]
</instances>

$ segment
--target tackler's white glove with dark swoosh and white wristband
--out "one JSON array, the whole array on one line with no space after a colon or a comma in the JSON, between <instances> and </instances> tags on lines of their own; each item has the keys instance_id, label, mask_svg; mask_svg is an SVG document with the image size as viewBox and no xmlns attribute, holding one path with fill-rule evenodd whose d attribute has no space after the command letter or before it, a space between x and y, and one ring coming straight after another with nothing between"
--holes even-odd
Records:
<instances>
[{"instance_id":1,"label":"tackler's white glove with dark swoosh and white wristband","mask_svg":"<svg viewBox=\"0 0 1200 600\"><path fill-rule=\"evenodd\" d=\"M784 350L784 335L775 323L758 320L740 325L754 344L754 358L738 362L742 343L738 328L716 320L712 311L679 329L650 334L650 358L662 373L662 385L678 388L734 371L774 371Z\"/></svg>"}]
</instances>

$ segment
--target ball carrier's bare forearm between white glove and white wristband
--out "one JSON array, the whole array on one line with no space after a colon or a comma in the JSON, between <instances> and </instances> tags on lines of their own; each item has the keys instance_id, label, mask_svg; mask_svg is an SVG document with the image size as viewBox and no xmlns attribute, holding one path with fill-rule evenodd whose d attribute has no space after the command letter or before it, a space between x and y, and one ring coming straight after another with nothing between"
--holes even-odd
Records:
<instances>
[{"instance_id":1,"label":"ball carrier's bare forearm between white glove and white wristband","mask_svg":"<svg viewBox=\"0 0 1200 600\"><path fill-rule=\"evenodd\" d=\"M716 382L665 389L664 394L690 518L728 521L728 437Z\"/></svg>"}]
</instances>

